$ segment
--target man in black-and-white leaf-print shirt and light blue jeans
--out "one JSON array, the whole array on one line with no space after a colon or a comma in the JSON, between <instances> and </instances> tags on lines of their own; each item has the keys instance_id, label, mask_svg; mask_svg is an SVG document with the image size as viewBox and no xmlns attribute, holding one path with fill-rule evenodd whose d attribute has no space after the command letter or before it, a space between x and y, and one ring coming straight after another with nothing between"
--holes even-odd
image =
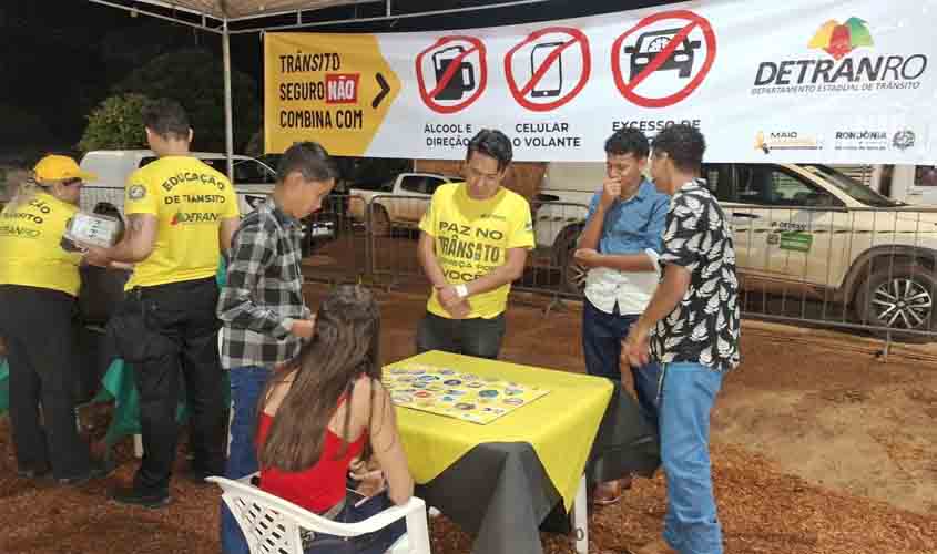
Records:
<instances>
[{"instance_id":1,"label":"man in black-and-white leaf-print shirt and light blue jeans","mask_svg":"<svg viewBox=\"0 0 937 554\"><path fill-rule=\"evenodd\" d=\"M739 280L732 232L699 178L705 141L689 125L661 131L651 174L671 194L660 263L663 278L631 327L622 370L662 367L661 458L668 481L663 541L644 554L722 554L710 471L710 410L725 371L739 365ZM672 550L671 550L672 548Z\"/></svg>"}]
</instances>

